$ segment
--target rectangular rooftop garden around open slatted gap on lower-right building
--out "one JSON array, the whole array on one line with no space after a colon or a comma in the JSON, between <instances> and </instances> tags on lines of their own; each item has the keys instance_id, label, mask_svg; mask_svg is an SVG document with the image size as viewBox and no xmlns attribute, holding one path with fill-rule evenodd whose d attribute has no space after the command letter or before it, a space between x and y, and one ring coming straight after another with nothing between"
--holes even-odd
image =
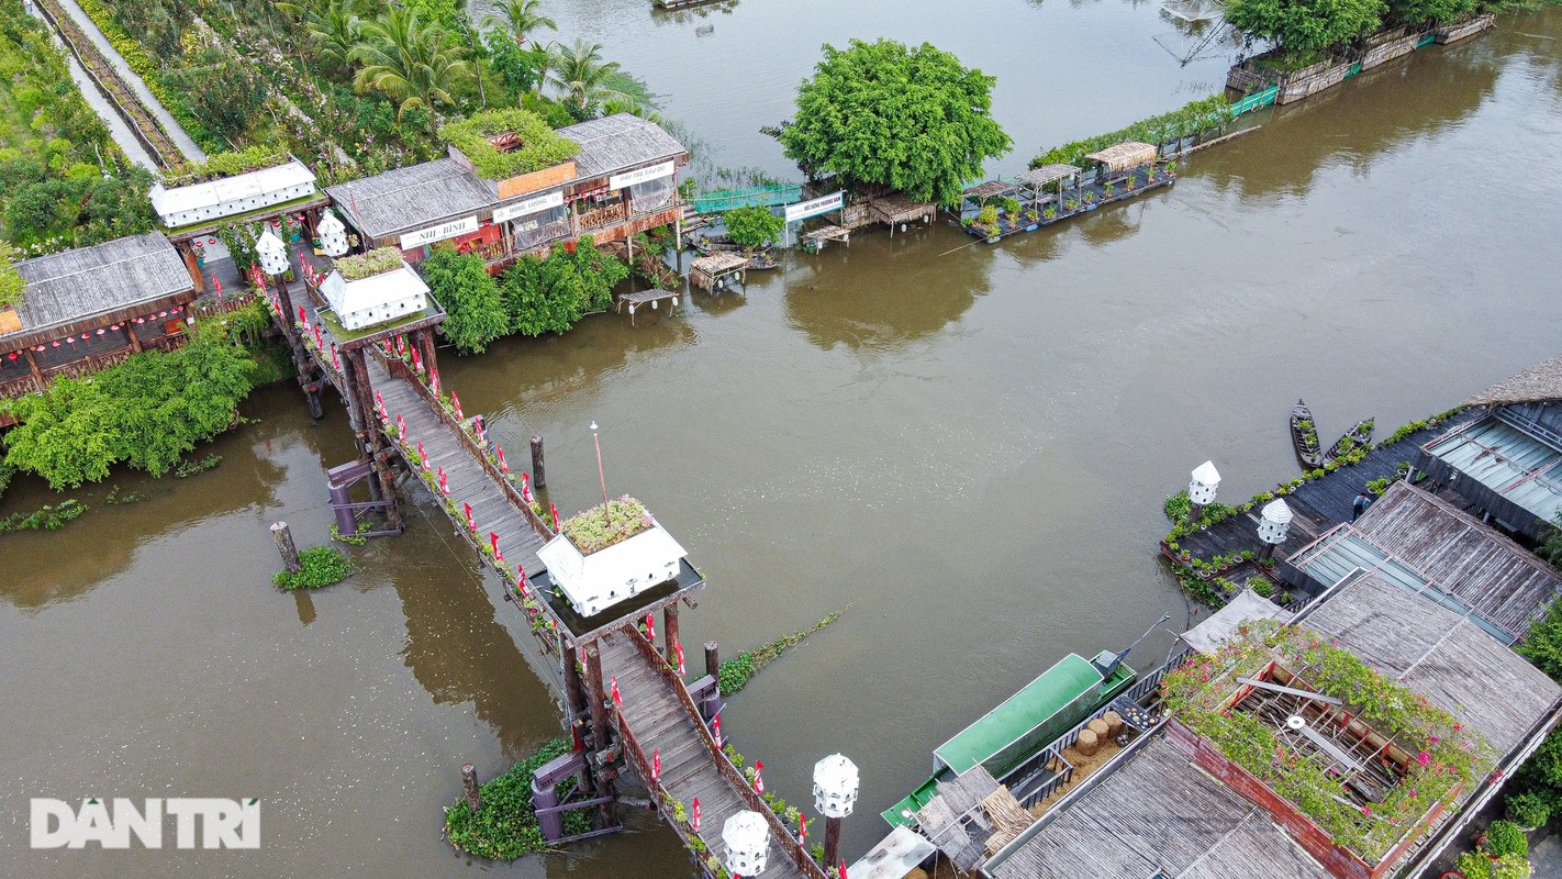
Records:
<instances>
[{"instance_id":1,"label":"rectangular rooftop garden around open slatted gap on lower-right building","mask_svg":"<svg viewBox=\"0 0 1562 879\"><path fill-rule=\"evenodd\" d=\"M1273 723L1232 707L1237 678L1261 678L1278 664L1301 687L1334 696L1345 710L1390 743L1373 757L1393 784L1381 798L1362 798L1323 753L1290 749ZM1201 656L1165 676L1165 706L1225 757L1286 798L1336 845L1368 865L1389 851L1426 817L1432 806L1450 804L1460 790L1492 768L1492 749L1473 729L1371 670L1351 653L1318 634L1273 620L1248 623L1215 656Z\"/></svg>"}]
</instances>

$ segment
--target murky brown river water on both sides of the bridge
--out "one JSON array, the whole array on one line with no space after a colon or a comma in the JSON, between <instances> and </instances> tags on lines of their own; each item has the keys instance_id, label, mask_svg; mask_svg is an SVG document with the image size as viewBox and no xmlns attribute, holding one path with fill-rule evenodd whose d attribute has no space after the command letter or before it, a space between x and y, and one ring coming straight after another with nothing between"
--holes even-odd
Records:
<instances>
[{"instance_id":1,"label":"murky brown river water on both sides of the bridge","mask_svg":"<svg viewBox=\"0 0 1562 879\"><path fill-rule=\"evenodd\" d=\"M1009 170L1212 91L1229 61L1179 67L1151 39L1175 28L1115 3L565 6L564 33L604 42L719 161L775 172L756 130L826 39L933 39L998 75ZM709 575L686 645L731 653L843 609L723 729L800 804L814 760L856 760L856 857L976 714L1067 651L1190 618L1153 543L1192 467L1214 457L1221 496L1243 498L1293 475L1296 397L1326 439L1365 415L1387 432L1556 354L1559 37L1548 11L1417 52L1061 228L998 247L875 231L673 319L445 356L444 379L517 456L547 437L564 512L598 492L601 425L609 490ZM216 470L119 475L66 529L0 540L0 874L689 876L645 813L547 859L450 851L459 765L487 778L558 732L536 646L420 496L406 536L355 550L351 581L276 593L266 526L326 539L323 468L350 457L348 431L334 407L311 425L287 389L245 414ZM148 498L105 504L114 482ZM19 481L0 514L48 500ZM28 798L92 795L258 796L262 846L28 849Z\"/></svg>"}]
</instances>

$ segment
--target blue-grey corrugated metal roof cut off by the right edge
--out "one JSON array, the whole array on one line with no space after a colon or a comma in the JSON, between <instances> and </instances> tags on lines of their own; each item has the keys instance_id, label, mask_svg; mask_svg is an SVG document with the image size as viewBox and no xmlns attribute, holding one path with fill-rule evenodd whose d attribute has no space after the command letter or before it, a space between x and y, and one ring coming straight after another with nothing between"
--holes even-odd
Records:
<instances>
[{"instance_id":1,"label":"blue-grey corrugated metal roof cut off by the right edge","mask_svg":"<svg viewBox=\"0 0 1562 879\"><path fill-rule=\"evenodd\" d=\"M1426 451L1545 521L1562 511L1562 482L1553 476L1562 451L1498 418L1434 440Z\"/></svg>"}]
</instances>

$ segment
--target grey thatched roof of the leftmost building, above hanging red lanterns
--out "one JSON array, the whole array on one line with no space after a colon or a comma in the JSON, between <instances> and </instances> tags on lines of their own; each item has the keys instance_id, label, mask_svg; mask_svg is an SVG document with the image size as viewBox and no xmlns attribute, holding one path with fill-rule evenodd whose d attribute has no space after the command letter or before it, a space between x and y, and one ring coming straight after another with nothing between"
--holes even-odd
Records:
<instances>
[{"instance_id":1,"label":"grey thatched roof of the leftmost building, above hanging red lanterns","mask_svg":"<svg viewBox=\"0 0 1562 879\"><path fill-rule=\"evenodd\" d=\"M61 328L180 294L195 298L184 259L162 233L145 233L16 264L27 281L17 317L22 329L0 336L16 347L23 336ZM27 343L39 343L30 340Z\"/></svg>"}]
</instances>

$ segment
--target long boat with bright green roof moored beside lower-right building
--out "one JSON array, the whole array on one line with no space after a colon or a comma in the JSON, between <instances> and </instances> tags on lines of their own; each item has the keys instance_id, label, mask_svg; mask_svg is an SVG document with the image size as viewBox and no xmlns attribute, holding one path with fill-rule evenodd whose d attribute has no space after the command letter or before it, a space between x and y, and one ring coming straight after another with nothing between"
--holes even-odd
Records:
<instances>
[{"instance_id":1,"label":"long boat with bright green roof moored beside lower-right building","mask_svg":"<svg viewBox=\"0 0 1562 879\"><path fill-rule=\"evenodd\" d=\"M1120 653L1103 649L1092 660L1070 653L1059 659L1018 693L934 748L933 776L904 799L881 812L884 820L892 827L909 824L914 815L937 796L940 781L976 767L1001 779L1079 726L1139 679L1139 673L1123 660L1145 635L1168 618L1170 615L1162 617Z\"/></svg>"}]
</instances>

